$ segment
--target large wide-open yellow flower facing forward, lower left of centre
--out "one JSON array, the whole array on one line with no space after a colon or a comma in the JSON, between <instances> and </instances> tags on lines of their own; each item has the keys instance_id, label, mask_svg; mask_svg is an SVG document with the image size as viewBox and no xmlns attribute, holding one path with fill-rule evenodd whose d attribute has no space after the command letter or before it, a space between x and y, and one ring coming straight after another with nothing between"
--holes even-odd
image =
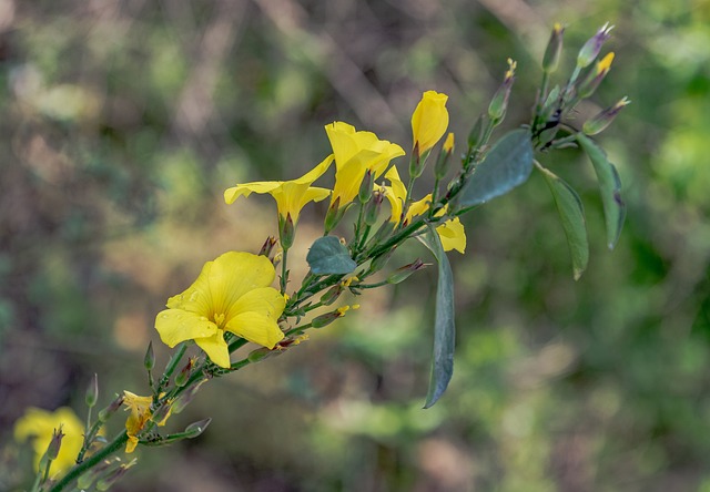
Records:
<instances>
[{"instance_id":1,"label":"large wide-open yellow flower facing forward, lower left of centre","mask_svg":"<svg viewBox=\"0 0 710 492\"><path fill-rule=\"evenodd\" d=\"M207 262L184 293L171 297L155 317L164 344L174 347L194 340L220 367L230 367L224 331L266 348L284 338L277 325L286 301L274 281L274 266L265 256L225 253Z\"/></svg>"}]
</instances>

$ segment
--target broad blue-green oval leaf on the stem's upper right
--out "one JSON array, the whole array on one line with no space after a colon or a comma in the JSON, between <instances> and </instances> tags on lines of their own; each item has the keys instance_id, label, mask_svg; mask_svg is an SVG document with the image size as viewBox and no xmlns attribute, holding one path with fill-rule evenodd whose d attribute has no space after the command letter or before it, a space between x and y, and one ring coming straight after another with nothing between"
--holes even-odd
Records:
<instances>
[{"instance_id":1,"label":"broad blue-green oval leaf on the stem's upper right","mask_svg":"<svg viewBox=\"0 0 710 492\"><path fill-rule=\"evenodd\" d=\"M500 139L464 186L458 207L467 208L504 195L525 183L532 171L530 132L514 130Z\"/></svg>"}]
</instances>

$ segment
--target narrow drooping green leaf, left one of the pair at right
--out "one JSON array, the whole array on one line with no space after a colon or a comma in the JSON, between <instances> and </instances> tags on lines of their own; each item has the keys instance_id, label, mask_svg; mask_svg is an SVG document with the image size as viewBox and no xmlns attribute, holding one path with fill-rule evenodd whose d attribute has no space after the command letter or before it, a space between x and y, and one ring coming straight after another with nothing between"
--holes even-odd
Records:
<instances>
[{"instance_id":1,"label":"narrow drooping green leaf, left one of the pair at right","mask_svg":"<svg viewBox=\"0 0 710 492\"><path fill-rule=\"evenodd\" d=\"M587 263L589 262L589 242L587 240L587 227L585 225L585 209L579 199L577 192L572 189L567 183L560 180L552 172L546 170L542 166L538 166L538 170L545 176L552 197L555 198L555 205L557 205L557 212L567 236L567 244L569 245L569 253L572 257L572 271L575 274L575 280L579 280L581 274L587 269Z\"/></svg>"}]
</instances>

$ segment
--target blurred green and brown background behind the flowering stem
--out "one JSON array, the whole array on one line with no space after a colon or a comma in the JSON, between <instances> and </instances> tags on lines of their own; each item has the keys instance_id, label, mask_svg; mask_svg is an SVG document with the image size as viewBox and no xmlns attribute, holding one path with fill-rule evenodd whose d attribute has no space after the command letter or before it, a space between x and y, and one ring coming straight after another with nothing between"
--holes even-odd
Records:
<instances>
[{"instance_id":1,"label":"blurred green and brown background behind the flowering stem","mask_svg":"<svg viewBox=\"0 0 710 492\"><path fill-rule=\"evenodd\" d=\"M582 196L589 270L572 280L537 175L466 216L456 370L433 409L432 270L210 383L169 426L212 417L206 433L139 450L115 490L710 491L708 0L0 0L0 489L28 486L9 448L27 406L83 417L94 372L100 404L145 394L165 299L275 234L270 197L226 206L225 187L301 175L334 120L408 147L428 89L463 142L508 57L504 130L525 123L556 21L565 73L616 24L580 107L633 101L599 139L628 203L616 250L590 165L542 156ZM304 212L294 262L323 213Z\"/></svg>"}]
</instances>

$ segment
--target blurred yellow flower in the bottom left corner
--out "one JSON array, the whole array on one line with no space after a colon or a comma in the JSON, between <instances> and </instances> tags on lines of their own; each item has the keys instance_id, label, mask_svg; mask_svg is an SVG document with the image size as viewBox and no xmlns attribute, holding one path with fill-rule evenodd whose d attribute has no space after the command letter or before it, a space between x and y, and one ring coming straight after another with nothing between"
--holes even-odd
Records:
<instances>
[{"instance_id":1,"label":"blurred yellow flower in the bottom left corner","mask_svg":"<svg viewBox=\"0 0 710 492\"><path fill-rule=\"evenodd\" d=\"M84 426L77 414L68 407L53 412L30 407L14 424L14 439L19 442L33 438L34 467L39 470L40 460L52 440L54 429L62 428L64 438L57 459L52 461L50 475L57 475L74 465L77 455L81 451L84 438Z\"/></svg>"}]
</instances>

